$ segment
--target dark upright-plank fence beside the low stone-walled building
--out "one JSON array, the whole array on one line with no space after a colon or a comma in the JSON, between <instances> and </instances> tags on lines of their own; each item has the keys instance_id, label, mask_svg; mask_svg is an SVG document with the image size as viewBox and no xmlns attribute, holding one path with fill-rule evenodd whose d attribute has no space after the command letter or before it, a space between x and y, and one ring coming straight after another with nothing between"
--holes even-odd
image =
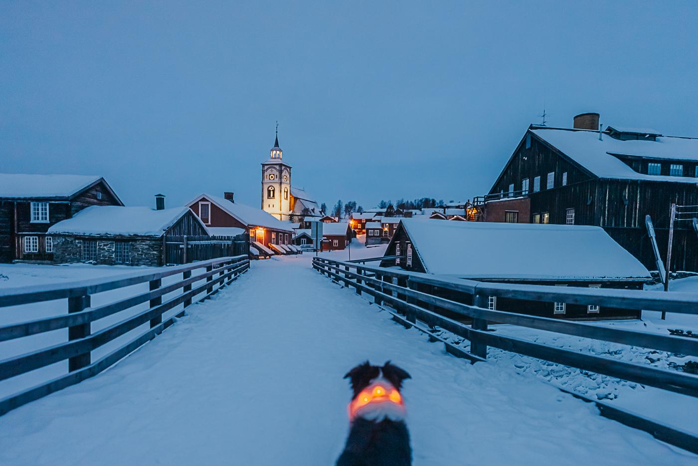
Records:
<instances>
[{"instance_id":1,"label":"dark upright-plank fence beside the low stone-walled building","mask_svg":"<svg viewBox=\"0 0 698 466\"><path fill-rule=\"evenodd\" d=\"M189 264L216 257L233 257L250 253L249 235L237 236L166 236L163 264Z\"/></svg>"}]
</instances>

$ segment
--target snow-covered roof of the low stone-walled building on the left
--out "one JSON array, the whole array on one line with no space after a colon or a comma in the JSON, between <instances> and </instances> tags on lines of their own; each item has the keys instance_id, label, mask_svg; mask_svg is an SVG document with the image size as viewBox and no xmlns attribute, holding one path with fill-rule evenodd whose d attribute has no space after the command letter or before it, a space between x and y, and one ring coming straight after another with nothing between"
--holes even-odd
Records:
<instances>
[{"instance_id":1,"label":"snow-covered roof of the low stone-walled building on the left","mask_svg":"<svg viewBox=\"0 0 698 466\"><path fill-rule=\"evenodd\" d=\"M150 207L89 206L73 218L52 225L48 232L89 236L162 236L188 211L188 207L158 211Z\"/></svg>"}]
</instances>

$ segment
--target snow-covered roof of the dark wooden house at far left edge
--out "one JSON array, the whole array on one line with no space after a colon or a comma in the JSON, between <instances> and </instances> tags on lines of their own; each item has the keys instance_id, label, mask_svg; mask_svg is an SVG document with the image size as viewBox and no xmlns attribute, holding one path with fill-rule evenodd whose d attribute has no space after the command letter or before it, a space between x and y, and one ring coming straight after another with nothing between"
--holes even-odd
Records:
<instances>
[{"instance_id":1,"label":"snow-covered roof of the dark wooden house at far left edge","mask_svg":"<svg viewBox=\"0 0 698 466\"><path fill-rule=\"evenodd\" d=\"M96 175L0 173L0 197L70 197L101 178Z\"/></svg>"}]
</instances>

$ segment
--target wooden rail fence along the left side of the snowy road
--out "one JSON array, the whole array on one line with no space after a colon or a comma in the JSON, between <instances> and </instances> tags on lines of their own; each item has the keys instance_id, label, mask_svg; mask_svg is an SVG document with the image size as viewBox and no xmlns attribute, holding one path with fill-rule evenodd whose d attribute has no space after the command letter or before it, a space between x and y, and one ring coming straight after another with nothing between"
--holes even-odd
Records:
<instances>
[{"instance_id":1,"label":"wooden rail fence along the left side of the snowy road","mask_svg":"<svg viewBox=\"0 0 698 466\"><path fill-rule=\"evenodd\" d=\"M205 269L205 271L192 276L192 271L198 269ZM66 328L68 329L68 341L11 356L0 361L0 381L29 373L32 370L45 368L66 359L68 360L68 373L50 380L43 380L29 389L24 389L0 399L0 415L101 373L101 371L112 366L119 359L155 338L168 326L174 324L177 317L184 315L184 308L191 305L195 296L205 293L202 299L207 299L212 294L218 292L221 287L232 283L233 280L236 280L241 273L248 269L249 259L247 255L239 255L235 257L220 257L218 259L195 262L194 264L165 267L161 271L144 274L129 273L117 279L84 280L79 283L68 283L53 287L19 287L3 290L0 293L0 308L28 303L43 303L55 299L67 299L68 313L0 326L0 342L18 338L31 338L31 336L39 333ZM163 278L179 273L182 275L181 280L163 285ZM193 285L202 280L205 280L205 282L200 285ZM146 282L149 283L149 291L147 292L128 296L103 306L91 307L92 294ZM181 293L172 297L168 296L163 301L165 294L177 292L180 289ZM148 308L142 311L139 310L135 315L129 315L125 319L119 320L119 322L91 333L92 322L97 322L107 316L129 310L141 303L148 303ZM180 304L183 304L183 308L179 312L163 320L163 313L176 308ZM92 351L148 323L149 329L142 331L135 338L119 345L115 350L100 357L98 360L91 361Z\"/></svg>"}]
</instances>

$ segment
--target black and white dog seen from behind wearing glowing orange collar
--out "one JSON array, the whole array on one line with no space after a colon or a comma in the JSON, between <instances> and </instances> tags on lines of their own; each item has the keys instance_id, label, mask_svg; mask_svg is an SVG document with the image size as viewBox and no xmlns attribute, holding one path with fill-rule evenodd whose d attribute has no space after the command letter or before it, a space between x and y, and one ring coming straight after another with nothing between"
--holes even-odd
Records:
<instances>
[{"instance_id":1,"label":"black and white dog seen from behind wearing glowing orange collar","mask_svg":"<svg viewBox=\"0 0 698 466\"><path fill-rule=\"evenodd\" d=\"M350 370L354 392L349 403L350 430L336 466L408 466L412 464L410 433L400 389L410 375L387 361L383 367L366 361Z\"/></svg>"}]
</instances>

